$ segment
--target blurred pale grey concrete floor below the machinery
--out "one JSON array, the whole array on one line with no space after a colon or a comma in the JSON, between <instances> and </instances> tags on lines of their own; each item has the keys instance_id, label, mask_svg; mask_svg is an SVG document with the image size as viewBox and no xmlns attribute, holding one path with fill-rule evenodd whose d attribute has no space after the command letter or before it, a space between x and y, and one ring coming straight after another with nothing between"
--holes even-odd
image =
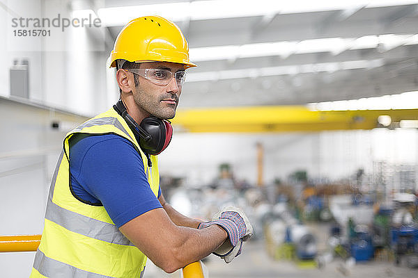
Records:
<instances>
[{"instance_id":1,"label":"blurred pale grey concrete floor below the machinery","mask_svg":"<svg viewBox=\"0 0 418 278\"><path fill-rule=\"evenodd\" d=\"M318 224L309 225L316 234L328 228ZM326 234L318 234L318 248L321 250L325 245ZM226 264L222 259L215 255L210 255L204 262L208 269L209 278L227 278L227 277L260 277L260 278L325 278L325 277L363 277L363 278L384 278L384 277L418 277L418 268L408 268L406 266L396 267L393 262L370 261L366 263L357 263L346 267L341 259L335 259L325 265L324 268L315 267L302 269L293 261L275 261L265 248L263 239L251 240L245 243L244 250L240 256L231 263ZM157 277L181 277L180 272L174 272L171 275L163 272L151 261L147 263L146 274L144 278Z\"/></svg>"}]
</instances>

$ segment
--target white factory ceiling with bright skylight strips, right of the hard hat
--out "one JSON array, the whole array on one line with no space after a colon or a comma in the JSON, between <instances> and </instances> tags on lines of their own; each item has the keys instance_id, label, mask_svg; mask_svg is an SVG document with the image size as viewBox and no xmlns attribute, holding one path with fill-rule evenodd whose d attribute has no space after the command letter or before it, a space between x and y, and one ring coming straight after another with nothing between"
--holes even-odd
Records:
<instances>
[{"instance_id":1,"label":"white factory ceiling with bright skylight strips, right of the hard hat","mask_svg":"<svg viewBox=\"0 0 418 278\"><path fill-rule=\"evenodd\" d=\"M173 2L176 1L169 1ZM245 5L252 2L257 3L240 1L241 9L248 10ZM182 107L307 104L418 90L418 35L415 35L418 34L418 1L400 6L392 6L393 3L385 6L391 2L389 0L373 1L373 7L357 3L357 6L343 10L335 7L327 10L318 4L317 10L323 10L277 12L280 3L285 5L286 2L273 1L274 7L265 15L259 12L262 8L257 8L258 11L254 12L259 14L257 16L242 16L236 10L227 15L227 11L222 10L219 15L228 18L193 19L185 16L177 19L180 21L176 24L189 42L192 60L194 56L199 65L188 72L189 81L183 86ZM396 3L412 2L415 1L398 0ZM133 6L138 1L105 3L104 8L110 8ZM150 5L162 1L141 3ZM150 6L143 7L146 10ZM311 7L311 10L315 8ZM240 6L236 9L239 11ZM305 10L309 9L305 7ZM216 11L211 13L216 17ZM164 11L161 10L160 14L164 15ZM107 28L111 36L109 40L114 41L122 25ZM371 37L362 38L364 36ZM341 44L338 50L331 51L335 40L330 40L330 47L327 47L327 42L316 40L323 38L350 40L338 40ZM367 47L355 47L353 43L359 42L355 41L357 38L373 43ZM282 44L269 44L270 54L261 51L246 56L233 55L235 49L239 52L239 49L254 48L262 42L291 42L291 47L285 54L274 49L279 49ZM215 46L235 48L232 48L232 56L223 58L216 58L219 53L213 49L201 49L212 51L212 60L208 60L209 54L198 56L197 48ZM110 51L111 46L107 47ZM221 53L225 54L227 50L222 49Z\"/></svg>"}]
</instances>

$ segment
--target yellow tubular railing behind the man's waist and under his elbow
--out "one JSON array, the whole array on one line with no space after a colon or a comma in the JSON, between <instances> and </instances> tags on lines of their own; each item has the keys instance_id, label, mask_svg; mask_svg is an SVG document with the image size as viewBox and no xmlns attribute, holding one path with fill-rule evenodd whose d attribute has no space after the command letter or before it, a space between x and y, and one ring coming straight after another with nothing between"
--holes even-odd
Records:
<instances>
[{"instance_id":1,"label":"yellow tubular railing behind the man's waist and under his elbow","mask_svg":"<svg viewBox=\"0 0 418 278\"><path fill-rule=\"evenodd\" d=\"M0 253L36 251L39 244L40 235L0 236ZM201 262L186 265L183 268L183 278L203 278Z\"/></svg>"}]
</instances>

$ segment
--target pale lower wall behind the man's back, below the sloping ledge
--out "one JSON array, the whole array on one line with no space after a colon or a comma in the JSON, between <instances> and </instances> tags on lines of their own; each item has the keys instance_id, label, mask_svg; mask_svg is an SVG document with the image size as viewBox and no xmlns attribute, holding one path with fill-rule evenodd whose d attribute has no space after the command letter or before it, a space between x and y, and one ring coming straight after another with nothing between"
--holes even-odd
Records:
<instances>
[{"instance_id":1,"label":"pale lower wall behind the man's back, below the sloping ledge","mask_svg":"<svg viewBox=\"0 0 418 278\"><path fill-rule=\"evenodd\" d=\"M67 130L65 115L0 98L0 235L41 234L47 192ZM34 252L0 253L0 277L29 277Z\"/></svg>"}]
</instances>

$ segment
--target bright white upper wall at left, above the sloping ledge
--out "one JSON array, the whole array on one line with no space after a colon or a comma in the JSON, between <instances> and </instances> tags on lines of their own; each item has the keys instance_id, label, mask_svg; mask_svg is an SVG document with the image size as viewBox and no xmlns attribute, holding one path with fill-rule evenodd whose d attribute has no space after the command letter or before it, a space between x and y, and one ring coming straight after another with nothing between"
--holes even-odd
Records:
<instances>
[{"instance_id":1,"label":"bright white upper wall at left, above the sloping ledge","mask_svg":"<svg viewBox=\"0 0 418 278\"><path fill-rule=\"evenodd\" d=\"M16 37L14 17L72 19L73 9L92 8L89 1L16 0L6 1L8 12L0 9L0 95L10 95L10 66L13 60L29 60L29 98L49 106L65 108L83 115L95 115L108 107L104 28L59 27L45 37ZM94 2L96 5L100 1ZM86 15L77 15L82 18ZM112 90L115 90L115 86ZM117 95L115 90L114 95ZM114 98L112 98L113 101Z\"/></svg>"}]
</instances>

